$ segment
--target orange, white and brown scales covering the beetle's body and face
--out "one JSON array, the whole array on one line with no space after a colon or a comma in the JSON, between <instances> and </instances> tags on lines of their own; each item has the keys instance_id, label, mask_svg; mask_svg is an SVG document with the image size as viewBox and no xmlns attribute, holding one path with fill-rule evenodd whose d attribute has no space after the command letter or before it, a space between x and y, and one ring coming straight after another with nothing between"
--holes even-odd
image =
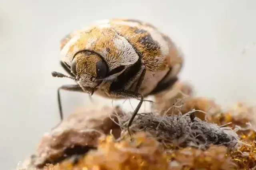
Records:
<instances>
[{"instance_id":1,"label":"orange, white and brown scales covering the beetle's body and face","mask_svg":"<svg viewBox=\"0 0 256 170\"><path fill-rule=\"evenodd\" d=\"M110 71L121 65L129 67L141 57L146 66L146 75L139 90L143 95L154 90L165 76L177 76L184 60L172 40L156 27L143 21L123 18L98 21L68 34L61 40L62 61L70 65L74 55L83 49L102 55ZM95 84L91 80L96 73L97 57L91 57L94 58L92 60L84 59L89 56L92 54L76 55L77 69L81 68L78 72L84 79L81 84L93 87ZM82 67L83 64L88 65L86 70ZM170 69L172 70L169 72ZM106 86L110 84L106 83ZM125 88L132 89L135 86L128 84Z\"/></svg>"}]
</instances>

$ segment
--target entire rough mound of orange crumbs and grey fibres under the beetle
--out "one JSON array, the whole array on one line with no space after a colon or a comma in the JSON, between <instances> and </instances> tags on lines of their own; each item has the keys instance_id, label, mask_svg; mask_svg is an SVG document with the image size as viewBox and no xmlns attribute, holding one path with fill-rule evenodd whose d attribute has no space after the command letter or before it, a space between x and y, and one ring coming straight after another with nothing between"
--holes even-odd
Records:
<instances>
[{"instance_id":1,"label":"entire rough mound of orange crumbs and grey fibres under the beetle","mask_svg":"<svg viewBox=\"0 0 256 170\"><path fill-rule=\"evenodd\" d=\"M126 131L130 113L119 107L88 108L44 136L29 162L44 170L256 168L256 112L251 107L238 104L209 113L211 100L191 97L184 103L175 114L138 114L132 139ZM201 113L207 120L197 117Z\"/></svg>"}]
</instances>

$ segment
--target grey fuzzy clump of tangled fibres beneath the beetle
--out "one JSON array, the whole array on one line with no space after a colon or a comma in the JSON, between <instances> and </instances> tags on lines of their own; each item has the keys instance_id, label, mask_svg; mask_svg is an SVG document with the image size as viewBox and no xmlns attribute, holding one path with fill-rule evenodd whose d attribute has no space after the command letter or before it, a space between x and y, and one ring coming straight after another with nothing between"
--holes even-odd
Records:
<instances>
[{"instance_id":1,"label":"grey fuzzy clump of tangled fibres beneath the beetle","mask_svg":"<svg viewBox=\"0 0 256 170\"><path fill-rule=\"evenodd\" d=\"M134 132L146 131L158 141L175 143L178 146L208 147L211 144L234 147L239 141L238 135L228 127L201 121L194 117L194 111L184 115L158 116L153 113L138 114L130 129ZM118 117L120 127L127 129L130 114Z\"/></svg>"}]
</instances>

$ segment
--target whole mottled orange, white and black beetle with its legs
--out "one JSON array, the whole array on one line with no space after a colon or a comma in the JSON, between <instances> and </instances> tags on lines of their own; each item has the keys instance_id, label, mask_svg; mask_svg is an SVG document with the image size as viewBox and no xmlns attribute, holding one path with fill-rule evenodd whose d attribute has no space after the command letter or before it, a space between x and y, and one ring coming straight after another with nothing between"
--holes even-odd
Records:
<instances>
[{"instance_id":1,"label":"whole mottled orange, white and black beetle with its legs","mask_svg":"<svg viewBox=\"0 0 256 170\"><path fill-rule=\"evenodd\" d=\"M100 21L76 30L61 40L60 64L74 85L60 89L98 94L107 98L143 98L162 92L178 80L182 54L172 40L150 23L132 19ZM128 129L129 130L129 129Z\"/></svg>"}]
</instances>

